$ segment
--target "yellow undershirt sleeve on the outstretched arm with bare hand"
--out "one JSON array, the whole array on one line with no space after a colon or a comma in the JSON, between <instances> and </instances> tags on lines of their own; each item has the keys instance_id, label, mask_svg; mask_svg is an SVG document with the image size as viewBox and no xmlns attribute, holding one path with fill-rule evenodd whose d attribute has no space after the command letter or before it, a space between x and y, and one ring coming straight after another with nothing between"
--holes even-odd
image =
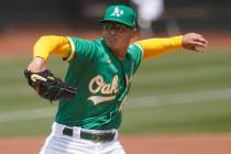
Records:
<instances>
[{"instance_id":1,"label":"yellow undershirt sleeve on the outstretched arm with bare hand","mask_svg":"<svg viewBox=\"0 0 231 154\"><path fill-rule=\"evenodd\" d=\"M155 57L174 50L183 48L182 45L183 36L174 36L167 38L148 38L138 41L144 52L144 58Z\"/></svg>"}]
</instances>

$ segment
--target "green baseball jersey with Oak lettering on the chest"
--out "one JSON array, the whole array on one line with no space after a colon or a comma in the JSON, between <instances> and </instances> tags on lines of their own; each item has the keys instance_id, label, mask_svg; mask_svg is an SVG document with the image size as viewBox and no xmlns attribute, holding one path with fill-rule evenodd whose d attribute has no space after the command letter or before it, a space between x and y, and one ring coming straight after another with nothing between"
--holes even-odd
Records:
<instances>
[{"instance_id":1,"label":"green baseball jersey with Oak lettering on the chest","mask_svg":"<svg viewBox=\"0 0 231 154\"><path fill-rule=\"evenodd\" d=\"M142 48L131 44L121 61L108 48L105 38L69 40L76 54L65 80L77 87L78 92L72 100L59 101L55 121L84 129L118 129L123 100L143 57Z\"/></svg>"}]
</instances>

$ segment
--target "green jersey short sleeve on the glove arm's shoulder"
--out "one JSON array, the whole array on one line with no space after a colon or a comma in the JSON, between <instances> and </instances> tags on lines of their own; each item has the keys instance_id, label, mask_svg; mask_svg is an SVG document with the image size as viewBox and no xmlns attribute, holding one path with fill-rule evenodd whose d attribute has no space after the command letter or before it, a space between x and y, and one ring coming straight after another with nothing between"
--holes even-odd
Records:
<instances>
[{"instance_id":1,"label":"green jersey short sleeve on the glove arm's shoulder","mask_svg":"<svg viewBox=\"0 0 231 154\"><path fill-rule=\"evenodd\" d=\"M67 38L69 40L72 51L75 53L73 58L78 58L81 61L94 61L96 58L97 45L92 41L79 37Z\"/></svg>"}]
</instances>

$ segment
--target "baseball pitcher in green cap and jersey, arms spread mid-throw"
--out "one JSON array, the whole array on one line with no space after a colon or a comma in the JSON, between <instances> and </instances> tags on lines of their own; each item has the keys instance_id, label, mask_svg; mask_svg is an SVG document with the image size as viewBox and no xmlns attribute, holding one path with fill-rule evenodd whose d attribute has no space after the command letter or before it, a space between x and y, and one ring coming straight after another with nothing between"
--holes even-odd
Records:
<instances>
[{"instance_id":1,"label":"baseball pitcher in green cap and jersey, arms spread mid-throw","mask_svg":"<svg viewBox=\"0 0 231 154\"><path fill-rule=\"evenodd\" d=\"M132 42L136 15L127 6L110 6L102 37L42 36L24 75L43 98L59 100L52 133L40 154L124 154L118 130L132 77L141 62L170 51L206 48L197 33ZM69 63L65 80L52 74L52 54Z\"/></svg>"}]
</instances>

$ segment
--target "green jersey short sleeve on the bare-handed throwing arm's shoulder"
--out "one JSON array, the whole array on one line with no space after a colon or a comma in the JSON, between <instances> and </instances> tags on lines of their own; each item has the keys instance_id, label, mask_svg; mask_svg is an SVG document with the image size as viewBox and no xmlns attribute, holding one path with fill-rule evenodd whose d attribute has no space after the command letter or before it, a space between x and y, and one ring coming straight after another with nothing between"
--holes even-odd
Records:
<instances>
[{"instance_id":1,"label":"green jersey short sleeve on the bare-handed throwing arm's shoulder","mask_svg":"<svg viewBox=\"0 0 231 154\"><path fill-rule=\"evenodd\" d=\"M133 43L129 46L129 54L131 55L132 57L132 61L133 61L133 64L134 64L134 68L133 68L133 74L138 70L140 64L141 64L141 61L144 56L144 53L143 53L143 50L142 47L140 46L140 44L138 43Z\"/></svg>"}]
</instances>

